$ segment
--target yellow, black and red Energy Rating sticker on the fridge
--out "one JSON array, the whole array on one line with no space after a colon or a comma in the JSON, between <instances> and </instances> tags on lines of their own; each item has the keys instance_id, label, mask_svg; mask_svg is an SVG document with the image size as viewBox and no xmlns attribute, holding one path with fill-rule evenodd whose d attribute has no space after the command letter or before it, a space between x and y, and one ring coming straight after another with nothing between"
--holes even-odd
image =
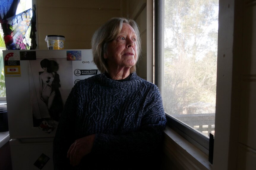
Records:
<instances>
[{"instance_id":1,"label":"yellow, black and red Energy Rating sticker on the fridge","mask_svg":"<svg viewBox=\"0 0 256 170\"><path fill-rule=\"evenodd\" d=\"M8 53L4 57L4 72L7 77L20 76L20 57L15 53Z\"/></svg>"}]
</instances>

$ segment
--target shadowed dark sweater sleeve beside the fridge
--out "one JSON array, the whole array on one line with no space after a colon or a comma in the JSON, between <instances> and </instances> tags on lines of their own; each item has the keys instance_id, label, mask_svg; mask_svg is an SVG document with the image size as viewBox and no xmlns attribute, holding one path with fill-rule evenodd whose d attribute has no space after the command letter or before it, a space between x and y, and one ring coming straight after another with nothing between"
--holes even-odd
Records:
<instances>
[{"instance_id":1,"label":"shadowed dark sweater sleeve beside the fridge","mask_svg":"<svg viewBox=\"0 0 256 170\"><path fill-rule=\"evenodd\" d=\"M53 164L55 170L71 169L67 158L67 151L75 138L75 120L72 114L75 113L78 104L76 91L74 86L65 103L53 141Z\"/></svg>"}]
</instances>

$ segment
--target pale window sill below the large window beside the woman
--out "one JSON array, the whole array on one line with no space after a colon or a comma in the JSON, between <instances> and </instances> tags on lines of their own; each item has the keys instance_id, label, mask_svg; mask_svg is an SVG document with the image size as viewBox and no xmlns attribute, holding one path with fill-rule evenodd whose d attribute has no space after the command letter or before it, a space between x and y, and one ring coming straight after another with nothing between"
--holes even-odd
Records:
<instances>
[{"instance_id":1,"label":"pale window sill below the large window beside the woman","mask_svg":"<svg viewBox=\"0 0 256 170\"><path fill-rule=\"evenodd\" d=\"M212 170L208 156L170 127L166 127L164 135L164 153L170 160L170 166L178 169Z\"/></svg>"}]
</instances>

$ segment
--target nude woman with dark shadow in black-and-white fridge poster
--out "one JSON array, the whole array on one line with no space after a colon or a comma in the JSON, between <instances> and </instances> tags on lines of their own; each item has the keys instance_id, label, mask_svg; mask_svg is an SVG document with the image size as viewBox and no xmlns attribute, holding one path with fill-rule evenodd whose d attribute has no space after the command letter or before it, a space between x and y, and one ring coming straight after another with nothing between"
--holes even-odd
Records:
<instances>
[{"instance_id":1,"label":"nude woman with dark shadow in black-and-white fridge poster","mask_svg":"<svg viewBox=\"0 0 256 170\"><path fill-rule=\"evenodd\" d=\"M63 102L59 91L60 79L57 73L59 65L54 60L43 59L40 65L44 72L39 72L39 95L42 105L40 106L41 119L34 122L45 132L52 132L58 124L63 110ZM37 124L39 123L39 124Z\"/></svg>"}]
</instances>

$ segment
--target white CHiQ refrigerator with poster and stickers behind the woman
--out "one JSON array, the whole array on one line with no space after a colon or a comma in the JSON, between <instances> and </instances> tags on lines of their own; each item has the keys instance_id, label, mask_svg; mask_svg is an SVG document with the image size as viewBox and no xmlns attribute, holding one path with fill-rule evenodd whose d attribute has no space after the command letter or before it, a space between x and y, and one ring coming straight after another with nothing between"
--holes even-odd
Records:
<instances>
[{"instance_id":1,"label":"white CHiQ refrigerator with poster and stickers behind the woman","mask_svg":"<svg viewBox=\"0 0 256 170\"><path fill-rule=\"evenodd\" d=\"M53 139L72 87L99 74L88 50L3 51L13 170L52 170Z\"/></svg>"}]
</instances>

